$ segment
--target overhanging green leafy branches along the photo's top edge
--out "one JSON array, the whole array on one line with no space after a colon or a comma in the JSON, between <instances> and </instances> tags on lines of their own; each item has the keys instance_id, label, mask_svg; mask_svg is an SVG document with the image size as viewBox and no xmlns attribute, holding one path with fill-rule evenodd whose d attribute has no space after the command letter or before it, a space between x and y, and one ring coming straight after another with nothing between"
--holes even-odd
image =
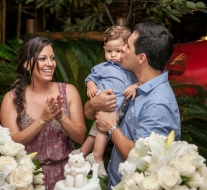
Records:
<instances>
[{"instance_id":1,"label":"overhanging green leafy branches along the photo's top edge","mask_svg":"<svg viewBox=\"0 0 207 190\"><path fill-rule=\"evenodd\" d=\"M19 1L16 0L16 2ZM64 6L72 4L72 0L24 0L24 2L35 2L36 8L49 8L51 13L54 11L61 12ZM120 3L127 8L126 26L129 25L132 16L138 14L138 10L142 10L145 13L143 21L156 23L164 23L165 18L181 22L180 18L183 15L194 14L195 11L207 13L205 4L202 1L195 2L195 0L80 0L75 2L79 3L79 8L83 7L83 5L87 8L82 11L81 17L83 18L76 19L76 24L66 23L64 27L66 31L104 30L109 25L115 25L116 23L111 14L113 10L110 8L113 3ZM100 9L100 5L105 11ZM71 9L68 9L68 11L71 11ZM110 23L104 19L103 12L108 16Z\"/></svg>"}]
</instances>

